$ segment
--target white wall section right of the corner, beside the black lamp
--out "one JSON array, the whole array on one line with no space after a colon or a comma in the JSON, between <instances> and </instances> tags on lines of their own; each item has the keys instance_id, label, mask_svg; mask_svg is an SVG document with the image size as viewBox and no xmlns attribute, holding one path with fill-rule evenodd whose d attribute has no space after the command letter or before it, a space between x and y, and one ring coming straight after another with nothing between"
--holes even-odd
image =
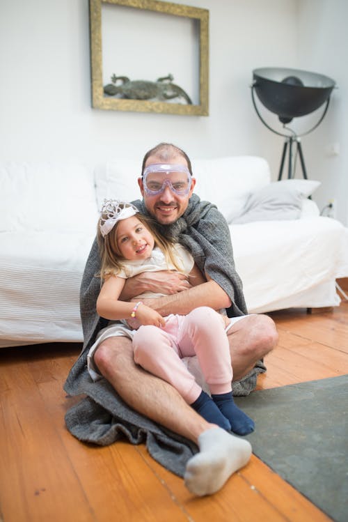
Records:
<instances>
[{"instance_id":1,"label":"white wall section right of the corner, beside the black lamp","mask_svg":"<svg viewBox=\"0 0 348 522\"><path fill-rule=\"evenodd\" d=\"M315 201L335 199L336 217L348 224L348 2L299 1L299 68L322 72L337 84L320 126L303 137L308 176L322 181ZM338 146L338 155L333 154ZM308 160L308 161L307 161Z\"/></svg>"}]
</instances>

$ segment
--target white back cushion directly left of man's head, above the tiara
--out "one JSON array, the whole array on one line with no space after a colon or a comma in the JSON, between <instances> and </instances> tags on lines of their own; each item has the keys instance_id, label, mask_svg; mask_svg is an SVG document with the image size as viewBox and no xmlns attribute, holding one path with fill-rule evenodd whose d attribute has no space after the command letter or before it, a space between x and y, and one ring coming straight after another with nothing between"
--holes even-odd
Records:
<instances>
[{"instance_id":1,"label":"white back cushion directly left of man's head, above the tiara","mask_svg":"<svg viewBox=\"0 0 348 522\"><path fill-rule=\"evenodd\" d=\"M94 171L97 206L102 208L104 199L134 201L141 199L138 178L141 164L135 160L116 160L98 164Z\"/></svg>"}]
</instances>

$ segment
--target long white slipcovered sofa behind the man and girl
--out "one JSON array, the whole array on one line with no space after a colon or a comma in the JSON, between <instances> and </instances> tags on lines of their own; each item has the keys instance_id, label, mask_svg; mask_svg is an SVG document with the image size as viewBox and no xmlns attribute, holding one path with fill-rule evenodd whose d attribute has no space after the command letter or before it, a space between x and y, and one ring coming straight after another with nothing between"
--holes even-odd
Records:
<instances>
[{"instance_id":1,"label":"long white slipcovered sofa behind the man and girl","mask_svg":"<svg viewBox=\"0 0 348 522\"><path fill-rule=\"evenodd\" d=\"M196 192L229 222L249 312L331 307L348 231L320 217L319 184L271 183L262 158L193 161ZM1 164L0 347L82 341L79 285L104 197L139 198L139 164Z\"/></svg>"}]
</instances>

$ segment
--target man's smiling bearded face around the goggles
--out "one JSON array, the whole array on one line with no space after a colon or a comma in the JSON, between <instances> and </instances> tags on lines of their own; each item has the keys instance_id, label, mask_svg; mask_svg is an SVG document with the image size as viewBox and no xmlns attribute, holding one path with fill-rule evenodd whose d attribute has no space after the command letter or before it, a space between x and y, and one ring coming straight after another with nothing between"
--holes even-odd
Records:
<instances>
[{"instance_id":1,"label":"man's smiling bearded face around the goggles","mask_svg":"<svg viewBox=\"0 0 348 522\"><path fill-rule=\"evenodd\" d=\"M145 167L159 163L163 162L160 158L158 158L158 156L150 156L150 158L148 158L145 163ZM180 164L184 165L184 167L187 167L187 161L181 155L174 156L171 160L166 161L165 163ZM160 176L164 181L166 174L163 173L160 174ZM142 178L139 178L138 183L145 202L145 207L148 209L149 213L161 224L172 224L175 223L175 221L177 221L187 209L193 188L196 185L196 180L195 178L191 178L191 187L189 193L183 196L175 194L175 192L171 190L170 185L165 185L163 192L152 196L146 194Z\"/></svg>"}]
</instances>

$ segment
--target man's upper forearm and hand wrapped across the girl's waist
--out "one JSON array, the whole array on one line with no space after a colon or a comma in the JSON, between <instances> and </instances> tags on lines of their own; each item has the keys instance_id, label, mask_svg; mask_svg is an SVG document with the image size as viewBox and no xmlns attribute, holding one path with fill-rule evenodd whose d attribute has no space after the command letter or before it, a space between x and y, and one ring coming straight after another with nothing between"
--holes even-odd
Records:
<instances>
[{"instance_id":1,"label":"man's upper forearm and hand wrapped across the girl's waist","mask_svg":"<svg viewBox=\"0 0 348 522\"><path fill-rule=\"evenodd\" d=\"M142 272L129 277L122 289L122 301L133 300L135 295L143 292L164 293L171 295L191 288L188 277L175 270L160 270L159 272Z\"/></svg>"}]
</instances>

